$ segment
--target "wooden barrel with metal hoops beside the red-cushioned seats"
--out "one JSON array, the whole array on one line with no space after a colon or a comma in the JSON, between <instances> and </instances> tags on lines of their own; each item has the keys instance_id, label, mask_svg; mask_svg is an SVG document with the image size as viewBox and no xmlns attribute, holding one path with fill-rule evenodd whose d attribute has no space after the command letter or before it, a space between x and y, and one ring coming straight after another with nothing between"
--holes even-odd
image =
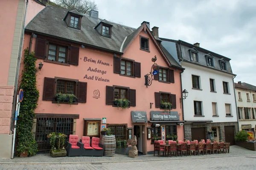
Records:
<instances>
[{"instance_id":1,"label":"wooden barrel with metal hoops beside the red-cushioned seats","mask_svg":"<svg viewBox=\"0 0 256 170\"><path fill-rule=\"evenodd\" d=\"M104 156L114 156L116 152L116 138L115 136L102 136L101 140L104 144Z\"/></svg>"}]
</instances>

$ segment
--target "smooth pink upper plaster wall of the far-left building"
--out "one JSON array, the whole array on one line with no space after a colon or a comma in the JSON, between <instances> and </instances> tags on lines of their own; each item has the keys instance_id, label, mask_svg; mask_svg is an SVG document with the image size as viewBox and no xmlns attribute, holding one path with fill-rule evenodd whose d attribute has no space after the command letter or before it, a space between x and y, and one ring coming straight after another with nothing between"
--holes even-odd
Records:
<instances>
[{"instance_id":1,"label":"smooth pink upper plaster wall of the far-left building","mask_svg":"<svg viewBox=\"0 0 256 170\"><path fill-rule=\"evenodd\" d=\"M7 85L19 0L0 0L0 85Z\"/></svg>"}]
</instances>

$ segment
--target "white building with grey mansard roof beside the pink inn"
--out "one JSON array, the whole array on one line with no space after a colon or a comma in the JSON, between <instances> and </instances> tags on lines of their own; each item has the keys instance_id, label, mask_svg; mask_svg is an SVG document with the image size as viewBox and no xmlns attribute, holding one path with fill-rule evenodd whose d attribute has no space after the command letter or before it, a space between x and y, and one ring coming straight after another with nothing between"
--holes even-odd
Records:
<instances>
[{"instance_id":1,"label":"white building with grey mansard roof beside the pink inn","mask_svg":"<svg viewBox=\"0 0 256 170\"><path fill-rule=\"evenodd\" d=\"M235 144L238 132L236 99L230 59L181 40L160 38L163 47L185 71L182 89L189 94L183 101L185 139L215 139ZM212 137L211 130L214 130Z\"/></svg>"}]
</instances>

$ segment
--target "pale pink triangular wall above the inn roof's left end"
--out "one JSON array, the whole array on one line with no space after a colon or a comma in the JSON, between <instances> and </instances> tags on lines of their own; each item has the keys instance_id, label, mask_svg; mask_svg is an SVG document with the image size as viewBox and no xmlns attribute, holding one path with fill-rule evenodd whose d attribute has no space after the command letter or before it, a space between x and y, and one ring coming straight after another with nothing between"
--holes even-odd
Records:
<instances>
[{"instance_id":1,"label":"pale pink triangular wall above the inn roof's left end","mask_svg":"<svg viewBox=\"0 0 256 170\"><path fill-rule=\"evenodd\" d=\"M44 9L45 6L35 2L35 0L29 0L29 6L28 6L28 11L26 14L26 23L27 25L38 12L40 12L42 9Z\"/></svg>"}]
</instances>

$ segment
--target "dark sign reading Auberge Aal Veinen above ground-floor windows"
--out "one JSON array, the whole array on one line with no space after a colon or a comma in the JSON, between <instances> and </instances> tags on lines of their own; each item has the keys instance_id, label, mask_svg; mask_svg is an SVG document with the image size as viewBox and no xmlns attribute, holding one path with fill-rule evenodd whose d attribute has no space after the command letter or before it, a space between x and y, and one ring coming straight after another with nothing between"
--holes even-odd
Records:
<instances>
[{"instance_id":1,"label":"dark sign reading Auberge Aal Veinen above ground-floor windows","mask_svg":"<svg viewBox=\"0 0 256 170\"><path fill-rule=\"evenodd\" d=\"M179 113L177 111L150 111L151 120L180 120Z\"/></svg>"}]
</instances>

